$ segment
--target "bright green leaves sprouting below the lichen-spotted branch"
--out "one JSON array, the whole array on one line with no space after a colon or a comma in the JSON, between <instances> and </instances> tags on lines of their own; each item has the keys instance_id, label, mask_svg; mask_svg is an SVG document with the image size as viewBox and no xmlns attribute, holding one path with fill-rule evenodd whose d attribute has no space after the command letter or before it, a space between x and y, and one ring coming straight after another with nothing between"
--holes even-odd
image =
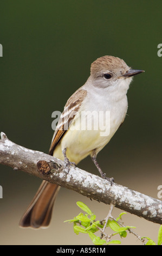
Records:
<instances>
[{"instance_id":1,"label":"bright green leaves sprouting below the lichen-spotted branch","mask_svg":"<svg viewBox=\"0 0 162 256\"><path fill-rule=\"evenodd\" d=\"M109 245L111 243L121 243L120 240L112 240L112 237L114 235L120 235L120 238L126 237L127 236L127 231L130 231L131 233L133 233L131 231L132 228L135 228L133 226L124 226L120 221L121 221L121 217L122 215L126 214L126 212L121 212L121 214L119 215L118 218L113 218L113 220L109 220L107 221L107 223L105 223L105 219L102 221L97 221L96 220L96 215L88 208L88 206L82 202L77 202L76 203L77 206L79 206L80 209L82 209L84 212L86 212L86 214L83 214L82 212L80 212L79 215L77 215L76 217L74 217L72 220L67 220L64 222L69 222L69 223L73 223L73 228L74 228L74 232L76 235L79 235L79 233L86 233L89 235L90 239L92 240L92 242L94 243L94 245ZM105 234L105 227L106 228L110 228L111 231L113 231L113 233L107 235ZM101 236L97 236L94 233L96 233L96 231L101 231ZM104 230L104 231L103 231ZM136 235L136 234L134 234ZM137 235L136 235L137 236ZM104 239L103 239L104 237ZM146 243L144 243L144 239L147 239L148 241ZM156 245L155 242L150 239L147 236L141 237L140 239L145 245ZM158 243L157 245L161 245L162 243L162 225L160 225L159 228L159 233L158 233Z\"/></svg>"}]
</instances>

